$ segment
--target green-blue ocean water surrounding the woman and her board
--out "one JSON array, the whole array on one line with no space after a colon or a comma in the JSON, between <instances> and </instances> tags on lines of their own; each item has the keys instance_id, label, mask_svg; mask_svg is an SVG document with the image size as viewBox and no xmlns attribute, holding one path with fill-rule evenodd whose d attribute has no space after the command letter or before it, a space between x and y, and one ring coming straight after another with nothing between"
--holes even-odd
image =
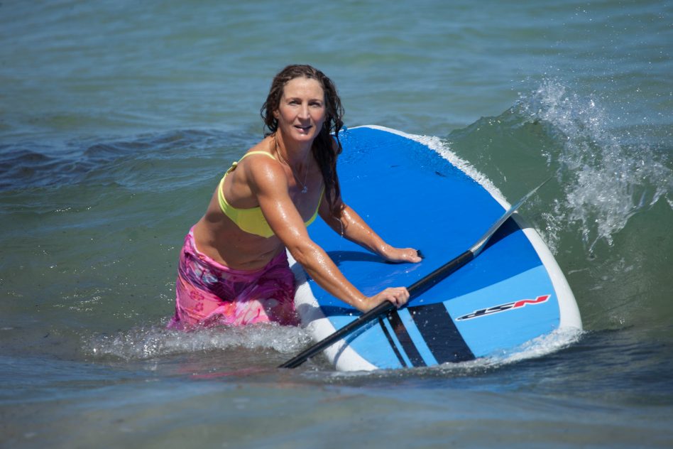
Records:
<instances>
[{"instance_id":1,"label":"green-blue ocean water surrounding the woman and her board","mask_svg":"<svg viewBox=\"0 0 673 449\"><path fill-rule=\"evenodd\" d=\"M0 4L0 446L673 445L671 1ZM339 373L299 328L169 332L177 254L310 63L437 139L552 249L584 332Z\"/></svg>"}]
</instances>

